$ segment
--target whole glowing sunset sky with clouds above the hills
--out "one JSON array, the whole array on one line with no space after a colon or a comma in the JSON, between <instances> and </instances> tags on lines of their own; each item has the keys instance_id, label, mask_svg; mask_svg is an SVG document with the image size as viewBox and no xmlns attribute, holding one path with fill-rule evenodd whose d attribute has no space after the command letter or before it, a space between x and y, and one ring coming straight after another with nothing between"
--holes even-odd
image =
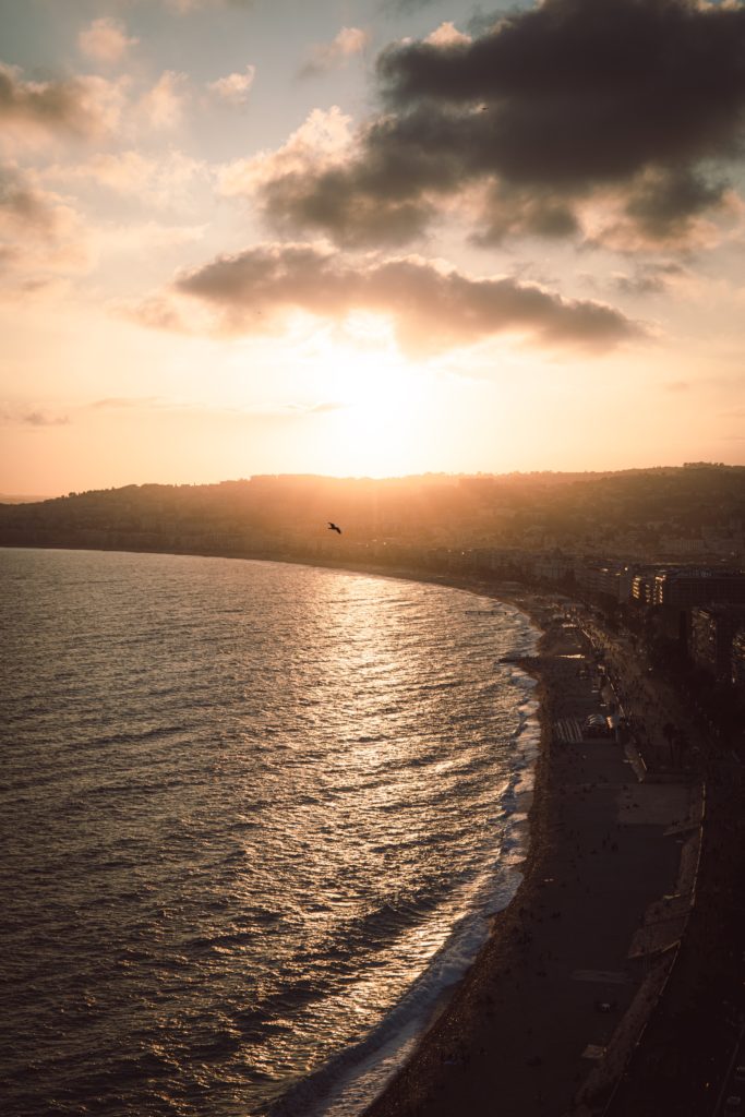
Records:
<instances>
[{"instance_id":1,"label":"whole glowing sunset sky with clouds above the hills","mask_svg":"<svg viewBox=\"0 0 745 1117\"><path fill-rule=\"evenodd\" d=\"M738 0L0 0L0 493L745 462Z\"/></svg>"}]
</instances>

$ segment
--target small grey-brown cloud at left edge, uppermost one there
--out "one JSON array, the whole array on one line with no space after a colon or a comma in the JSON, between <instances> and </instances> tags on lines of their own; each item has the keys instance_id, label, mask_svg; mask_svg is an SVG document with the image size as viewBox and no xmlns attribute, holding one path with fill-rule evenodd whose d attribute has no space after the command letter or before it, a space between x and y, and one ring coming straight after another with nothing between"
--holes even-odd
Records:
<instances>
[{"instance_id":1,"label":"small grey-brown cloud at left edge, uppermost one there","mask_svg":"<svg viewBox=\"0 0 745 1117\"><path fill-rule=\"evenodd\" d=\"M27 82L17 66L0 63L0 135L4 141L74 136L97 139L117 124L120 83L90 75Z\"/></svg>"}]
</instances>

